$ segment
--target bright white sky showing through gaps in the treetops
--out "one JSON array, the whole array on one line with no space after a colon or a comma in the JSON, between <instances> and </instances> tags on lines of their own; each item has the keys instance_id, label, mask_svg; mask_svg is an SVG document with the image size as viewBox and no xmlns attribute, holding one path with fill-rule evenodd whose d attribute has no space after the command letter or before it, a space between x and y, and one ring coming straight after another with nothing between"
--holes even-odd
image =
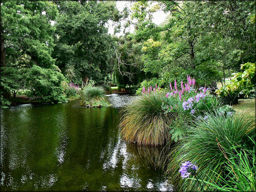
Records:
<instances>
[{"instance_id":1,"label":"bright white sky showing through gaps in the treetops","mask_svg":"<svg viewBox=\"0 0 256 192\"><path fill-rule=\"evenodd\" d=\"M133 2L131 2L131 1L117 1L116 4L117 4L117 9L119 11L122 11L125 6L128 6L130 8L131 5L133 4ZM168 14L165 14L163 11L156 11L152 15L153 15L152 21L155 24L159 25L160 23L162 23L164 21L164 19L166 19L166 16ZM131 26L129 31L134 32L134 27ZM109 22L109 34L114 34L114 27L112 27L112 22ZM120 36L120 35L123 35L123 34L118 33L118 34L115 34L115 35Z\"/></svg>"}]
</instances>

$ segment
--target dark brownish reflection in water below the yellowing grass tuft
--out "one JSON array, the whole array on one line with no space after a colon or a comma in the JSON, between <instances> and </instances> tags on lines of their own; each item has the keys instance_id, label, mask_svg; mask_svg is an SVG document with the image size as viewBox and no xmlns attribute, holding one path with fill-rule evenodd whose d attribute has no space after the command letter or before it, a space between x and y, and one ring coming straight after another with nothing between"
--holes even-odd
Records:
<instances>
[{"instance_id":1,"label":"dark brownish reflection in water below the yellowing grass tuft","mask_svg":"<svg viewBox=\"0 0 256 192\"><path fill-rule=\"evenodd\" d=\"M148 168L162 168L163 147L143 146L134 143L127 144L127 151L132 153L137 158L141 158L141 162L145 162Z\"/></svg>"}]
</instances>

